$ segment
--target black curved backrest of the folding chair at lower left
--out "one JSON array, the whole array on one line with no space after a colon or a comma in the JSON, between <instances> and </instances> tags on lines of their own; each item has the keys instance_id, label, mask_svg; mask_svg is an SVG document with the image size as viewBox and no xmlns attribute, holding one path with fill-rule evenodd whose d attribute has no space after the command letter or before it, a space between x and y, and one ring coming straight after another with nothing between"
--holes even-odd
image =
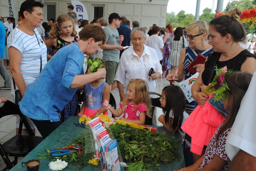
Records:
<instances>
[{"instance_id":1,"label":"black curved backrest of the folding chair at lower left","mask_svg":"<svg viewBox=\"0 0 256 171\"><path fill-rule=\"evenodd\" d=\"M8 116L8 115L19 115L20 123L19 123L18 135L21 135L22 126L24 124L28 131L28 134L31 136L34 136L34 133L31 129L25 115L23 115L23 113L20 111L19 107L16 104L14 104L13 102L11 102L9 100L6 101L2 107L0 107L0 118L2 118L4 116Z\"/></svg>"}]
</instances>

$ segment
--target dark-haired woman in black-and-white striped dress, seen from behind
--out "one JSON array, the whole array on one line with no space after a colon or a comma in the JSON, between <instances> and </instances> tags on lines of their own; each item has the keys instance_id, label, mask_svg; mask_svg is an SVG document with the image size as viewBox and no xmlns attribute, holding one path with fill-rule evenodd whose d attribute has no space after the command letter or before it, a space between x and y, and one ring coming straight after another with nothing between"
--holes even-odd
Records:
<instances>
[{"instance_id":1,"label":"dark-haired woman in black-and-white striped dress, seen from behind","mask_svg":"<svg viewBox=\"0 0 256 171\"><path fill-rule=\"evenodd\" d=\"M181 50L187 47L187 41L184 40L183 30L181 27L177 27L174 31L174 37L170 41L170 65L172 65L172 74L177 74L179 70L179 60Z\"/></svg>"}]
</instances>

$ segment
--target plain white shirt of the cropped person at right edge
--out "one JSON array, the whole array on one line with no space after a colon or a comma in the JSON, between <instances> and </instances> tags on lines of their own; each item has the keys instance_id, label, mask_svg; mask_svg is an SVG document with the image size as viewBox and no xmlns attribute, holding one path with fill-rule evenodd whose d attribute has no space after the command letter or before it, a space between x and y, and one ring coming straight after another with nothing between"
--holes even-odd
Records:
<instances>
[{"instance_id":1,"label":"plain white shirt of the cropped person at right edge","mask_svg":"<svg viewBox=\"0 0 256 171\"><path fill-rule=\"evenodd\" d=\"M232 161L239 149L256 157L256 72L241 102L236 120L227 137L227 155Z\"/></svg>"}]
</instances>

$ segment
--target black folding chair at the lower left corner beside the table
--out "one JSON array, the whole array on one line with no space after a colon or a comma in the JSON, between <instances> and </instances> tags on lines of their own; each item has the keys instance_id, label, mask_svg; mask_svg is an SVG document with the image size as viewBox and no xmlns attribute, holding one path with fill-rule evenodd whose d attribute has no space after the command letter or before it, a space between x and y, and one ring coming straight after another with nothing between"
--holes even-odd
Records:
<instances>
[{"instance_id":1,"label":"black folding chair at the lower left corner beside the table","mask_svg":"<svg viewBox=\"0 0 256 171\"><path fill-rule=\"evenodd\" d=\"M6 101L2 107L0 107L0 118L8 115L19 115L19 132L8 141L3 144L0 143L0 154L4 160L6 167L3 170L11 169L17 164L18 157L25 157L30 151L32 151L43 140L42 137L34 136L34 133L26 119L22 114L19 107L11 101ZM21 135L22 125L25 125L29 136ZM8 128L6 128L8 129ZM14 160L11 161L9 156L13 156Z\"/></svg>"}]
</instances>

